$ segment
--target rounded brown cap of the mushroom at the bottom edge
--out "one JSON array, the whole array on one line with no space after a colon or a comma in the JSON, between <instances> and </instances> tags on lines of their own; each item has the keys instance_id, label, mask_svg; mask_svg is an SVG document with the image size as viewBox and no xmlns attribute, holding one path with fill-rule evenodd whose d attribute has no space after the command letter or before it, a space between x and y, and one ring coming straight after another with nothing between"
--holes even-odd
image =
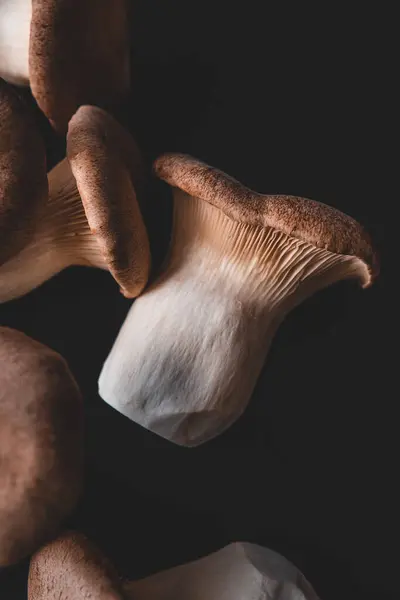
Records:
<instances>
[{"instance_id":1,"label":"rounded brown cap of the mushroom at the bottom edge","mask_svg":"<svg viewBox=\"0 0 400 600\"><path fill-rule=\"evenodd\" d=\"M66 532L32 557L28 600L122 600L117 574L84 535Z\"/></svg>"}]
</instances>

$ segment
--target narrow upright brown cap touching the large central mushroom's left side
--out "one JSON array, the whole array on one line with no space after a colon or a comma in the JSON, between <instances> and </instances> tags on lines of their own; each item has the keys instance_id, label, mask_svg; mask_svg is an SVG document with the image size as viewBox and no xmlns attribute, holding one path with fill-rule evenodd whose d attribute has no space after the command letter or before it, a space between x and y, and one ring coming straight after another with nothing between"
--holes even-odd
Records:
<instances>
[{"instance_id":1,"label":"narrow upright brown cap touching the large central mushroom's left side","mask_svg":"<svg viewBox=\"0 0 400 600\"><path fill-rule=\"evenodd\" d=\"M82 106L68 127L67 156L108 268L122 293L134 298L150 270L147 231L136 198L139 150L108 113Z\"/></svg>"}]
</instances>

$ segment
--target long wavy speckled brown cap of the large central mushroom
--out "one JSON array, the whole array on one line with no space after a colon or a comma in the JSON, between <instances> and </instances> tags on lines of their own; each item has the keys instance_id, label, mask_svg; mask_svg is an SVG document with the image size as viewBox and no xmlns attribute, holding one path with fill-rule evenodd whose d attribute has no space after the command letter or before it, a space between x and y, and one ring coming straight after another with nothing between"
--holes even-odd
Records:
<instances>
[{"instance_id":1,"label":"long wavy speckled brown cap of the large central mushroom","mask_svg":"<svg viewBox=\"0 0 400 600\"><path fill-rule=\"evenodd\" d=\"M271 227L317 248L357 257L367 267L363 287L371 285L378 274L368 234L357 221L331 206L296 196L258 194L185 154L160 156L154 171L169 185L209 202L234 221Z\"/></svg>"}]
</instances>

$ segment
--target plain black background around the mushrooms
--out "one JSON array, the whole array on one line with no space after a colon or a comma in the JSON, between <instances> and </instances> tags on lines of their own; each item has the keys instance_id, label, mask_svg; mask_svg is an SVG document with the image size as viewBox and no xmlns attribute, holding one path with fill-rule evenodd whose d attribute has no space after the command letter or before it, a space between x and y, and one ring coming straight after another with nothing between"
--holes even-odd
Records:
<instances>
[{"instance_id":1,"label":"plain black background around the mushrooms","mask_svg":"<svg viewBox=\"0 0 400 600\"><path fill-rule=\"evenodd\" d=\"M108 273L71 268L1 306L0 323L63 354L85 394L86 491L67 525L95 540L121 575L142 577L245 540L292 560L322 599L398 598L379 24L323 4L280 14L273 4L240 4L138 2L133 92L117 117L148 166L163 151L189 152L257 191L352 215L381 254L376 285L338 284L293 311L244 416L195 449L152 435L97 396L130 306ZM63 141L38 119L51 167ZM170 226L163 184L151 182L143 211L156 273ZM1 600L24 597L26 574L27 564L0 573Z\"/></svg>"}]
</instances>

